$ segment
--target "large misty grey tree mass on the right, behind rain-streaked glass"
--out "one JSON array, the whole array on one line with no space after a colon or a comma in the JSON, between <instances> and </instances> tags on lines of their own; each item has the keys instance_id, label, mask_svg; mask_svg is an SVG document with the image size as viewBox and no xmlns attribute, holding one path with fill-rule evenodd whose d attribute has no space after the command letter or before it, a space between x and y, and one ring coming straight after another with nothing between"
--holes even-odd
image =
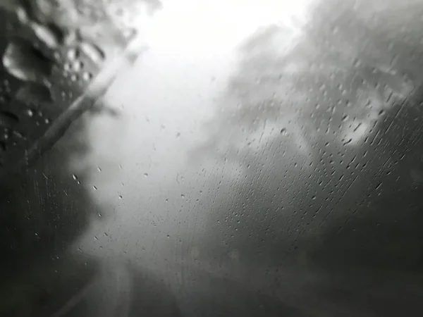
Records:
<instances>
[{"instance_id":1,"label":"large misty grey tree mass on the right, behind rain-streaked glass","mask_svg":"<svg viewBox=\"0 0 423 317\"><path fill-rule=\"evenodd\" d=\"M398 246L419 241L417 227L405 230L419 219L416 200L407 216L385 211L402 225L387 221L391 227L377 237L365 229L383 217L391 194L417 199L410 162L421 170L419 120L412 118L421 117L422 6L411 2L378 2L369 10L360 1L325 1L299 36L271 25L240 47L238 71L207 125L211 137L197 149L217 151L245 175L210 216L214 230L238 235L229 242L237 249L267 248L265 262L300 254L313 264L318 252L325 263L344 257L343 265L355 259L399 268ZM351 249L352 235L342 240L333 233L345 222L363 228L361 244L379 241L364 252L373 251L371 259ZM395 230L405 235L398 243L388 238ZM343 244L337 254L335 245ZM403 268L417 268L418 253L415 246L408 258L414 264Z\"/></svg>"}]
</instances>

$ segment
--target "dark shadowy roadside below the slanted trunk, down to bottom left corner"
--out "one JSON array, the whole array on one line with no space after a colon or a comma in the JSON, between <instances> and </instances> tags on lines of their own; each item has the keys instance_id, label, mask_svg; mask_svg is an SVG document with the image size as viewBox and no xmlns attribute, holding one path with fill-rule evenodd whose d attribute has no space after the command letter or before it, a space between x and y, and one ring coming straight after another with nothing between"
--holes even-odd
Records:
<instances>
[{"instance_id":1,"label":"dark shadowy roadside below the slanted trunk, down to bottom left corner","mask_svg":"<svg viewBox=\"0 0 423 317\"><path fill-rule=\"evenodd\" d=\"M90 155L86 128L98 112L75 121L16 178L1 180L2 316L179 316L157 274L126 260L82 254L73 245L109 214L88 193L90 170L74 174L70 166Z\"/></svg>"}]
</instances>

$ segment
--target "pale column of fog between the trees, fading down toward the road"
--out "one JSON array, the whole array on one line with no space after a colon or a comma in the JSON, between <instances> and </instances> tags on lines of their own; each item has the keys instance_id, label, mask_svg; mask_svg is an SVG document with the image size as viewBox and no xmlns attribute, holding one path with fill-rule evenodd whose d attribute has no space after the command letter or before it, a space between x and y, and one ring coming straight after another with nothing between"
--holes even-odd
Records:
<instances>
[{"instance_id":1,"label":"pale column of fog between the trees, fading down toward the road","mask_svg":"<svg viewBox=\"0 0 423 317\"><path fill-rule=\"evenodd\" d=\"M111 256L130 249L141 256L140 249L157 254L163 247L185 256L195 247L191 231L200 237L209 217L204 202L197 201L206 197L202 192L213 190L207 199L216 199L218 182L228 186L242 174L237 166L222 164L219 155L197 159L195 148L207 140L204 125L226 102L222 96L237 68L239 44L269 17L276 20L275 5L187 1L165 6L143 23L147 51L105 97L121 115L90 122L93 153L85 162L93 172L86 186L96 186L94 199L115 211L109 227L99 229L107 237L97 233L98 240L87 242L90 249ZM286 14L285 9L279 8ZM87 240L90 235L95 231Z\"/></svg>"}]
</instances>

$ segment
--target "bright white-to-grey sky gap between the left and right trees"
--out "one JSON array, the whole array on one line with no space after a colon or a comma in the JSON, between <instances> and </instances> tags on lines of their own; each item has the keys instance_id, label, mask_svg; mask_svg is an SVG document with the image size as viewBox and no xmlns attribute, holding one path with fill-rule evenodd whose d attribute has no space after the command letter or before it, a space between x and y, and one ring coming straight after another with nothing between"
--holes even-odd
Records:
<instances>
[{"instance_id":1,"label":"bright white-to-grey sky gap between the left and right trees","mask_svg":"<svg viewBox=\"0 0 423 317\"><path fill-rule=\"evenodd\" d=\"M149 49L109 91L109 101L123 110L123 117L99 118L90 126L93 152L88 160L102 167L101 173L93 169L91 182L98 189L92 194L97 201L116 206L125 228L157 230L149 220L166 218L169 210L176 217L180 204L185 204L180 194L187 195L188 204L188 199L195 201L190 192L200 189L204 179L219 179L221 173L236 177L235 167L219 170L216 162L192 166L187 163L190 150L202 140L204 122L214 113L238 65L236 46L260 26L293 27L293 15L305 20L305 1L173 0L152 18L140 16L140 38ZM168 188L173 193L167 193ZM154 195L168 197L169 202L163 197L164 205L158 206ZM190 211L186 206L183 210ZM121 243L134 240L119 228L113 224L108 230L122 235ZM90 238L92 247L105 246L105 239Z\"/></svg>"}]
</instances>

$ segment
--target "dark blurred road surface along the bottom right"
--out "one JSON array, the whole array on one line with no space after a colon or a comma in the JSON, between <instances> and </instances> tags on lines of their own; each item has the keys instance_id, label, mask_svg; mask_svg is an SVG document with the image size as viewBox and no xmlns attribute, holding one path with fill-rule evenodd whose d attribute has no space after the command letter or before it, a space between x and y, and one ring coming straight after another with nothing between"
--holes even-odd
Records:
<instances>
[{"instance_id":1,"label":"dark blurred road surface along the bottom right","mask_svg":"<svg viewBox=\"0 0 423 317\"><path fill-rule=\"evenodd\" d=\"M423 316L422 276L179 261L161 278L182 316Z\"/></svg>"}]
</instances>

